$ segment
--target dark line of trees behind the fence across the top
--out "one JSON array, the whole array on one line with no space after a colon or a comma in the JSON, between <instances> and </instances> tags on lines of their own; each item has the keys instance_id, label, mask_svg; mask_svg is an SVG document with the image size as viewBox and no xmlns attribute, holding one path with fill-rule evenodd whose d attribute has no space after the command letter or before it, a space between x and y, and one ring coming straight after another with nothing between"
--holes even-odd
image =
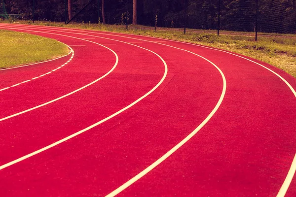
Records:
<instances>
[{"instance_id":1,"label":"dark line of trees behind the fence across the top","mask_svg":"<svg viewBox=\"0 0 296 197\"><path fill-rule=\"evenodd\" d=\"M71 19L90 0L4 0L8 13L23 13L32 20ZM267 33L296 33L295 0L92 0L74 19L76 22L125 24L192 29L217 29L218 11L221 30L253 32L256 13L258 30ZM186 15L185 13L186 9Z\"/></svg>"}]
</instances>

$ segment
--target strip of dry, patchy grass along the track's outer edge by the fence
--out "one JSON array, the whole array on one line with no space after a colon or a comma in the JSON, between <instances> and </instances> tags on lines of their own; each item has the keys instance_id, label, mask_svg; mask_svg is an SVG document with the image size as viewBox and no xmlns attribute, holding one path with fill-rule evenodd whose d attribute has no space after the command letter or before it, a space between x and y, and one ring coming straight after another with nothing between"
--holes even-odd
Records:
<instances>
[{"instance_id":1,"label":"strip of dry, patchy grass along the track's outer edge by the fence","mask_svg":"<svg viewBox=\"0 0 296 197\"><path fill-rule=\"evenodd\" d=\"M32 24L31 21L19 21L21 24ZM266 62L285 70L296 77L296 35L279 33L259 33L258 41L254 41L254 34L250 32L231 32L221 31L217 36L215 30L191 30L186 34L182 29L157 28L154 32L153 27L141 25L129 26L125 30L124 25L102 25L90 23L72 23L65 25L58 22L37 21L35 25L68 27L79 29L90 29L100 31L110 31L119 33L132 33L138 35L148 35L179 41L186 41L205 46L242 54L257 60Z\"/></svg>"}]
</instances>

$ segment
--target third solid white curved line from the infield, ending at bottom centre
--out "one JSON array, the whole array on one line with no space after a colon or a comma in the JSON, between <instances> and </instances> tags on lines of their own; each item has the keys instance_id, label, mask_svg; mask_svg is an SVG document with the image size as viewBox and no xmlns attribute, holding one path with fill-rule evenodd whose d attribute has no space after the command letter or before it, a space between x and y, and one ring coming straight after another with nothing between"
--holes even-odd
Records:
<instances>
[{"instance_id":1,"label":"third solid white curved line from the infield, ending at bottom centre","mask_svg":"<svg viewBox=\"0 0 296 197\"><path fill-rule=\"evenodd\" d=\"M76 34L76 33L74 33ZM82 33L79 33L82 34ZM104 37L100 37L100 36L95 36L95 35L89 35L89 36L94 36L94 37L99 37L99 38L104 38ZM125 36L120 36L120 37L125 37ZM129 38L129 37L128 37ZM109 40L113 40L111 38L104 38L104 39L109 39ZM136 39L136 38L135 38ZM139 39L140 40L140 39ZM148 40L143 40L143 41L148 41ZM123 41L120 41L123 42ZM157 43L157 42L153 42L153 41L148 41L148 42L152 42L152 43ZM117 194L119 194L120 192L122 192L124 189L126 189L127 187L129 187L130 185L132 185L133 183L135 183L137 180L139 180L140 178L142 178L144 175L146 175L149 171L151 171L154 167L156 167L157 165L159 165L160 163L162 163L164 160L166 160L170 155L172 155L175 151L177 151L181 146L183 146L190 138L192 138L211 118L212 116L216 113L216 111L218 110L218 108L220 107L222 100L225 96L225 92L226 92L226 79L225 76L222 72L222 70L216 66L214 63L212 63L211 61L209 61L208 59L197 55L191 51L185 50L185 49L181 49L178 47L174 47L174 46L170 46L170 45L166 45L166 44L162 44L162 43L157 43L157 44L161 44L164 46L168 46L168 47L172 47L175 49L179 49L188 53L191 53L193 55L196 55L204 60L206 60L207 62L209 62L210 64L212 64L213 66L215 66L218 71L220 72L222 79L223 79L223 89L222 89L222 94L220 96L220 99L218 101L218 103L216 104L215 108L212 110L212 112L207 116L207 118L194 130L192 131L188 136L186 136L185 139L183 139L181 142L179 142L176 146L174 146L169 152L165 153L161 158L159 158L157 161L155 161L153 164L149 165L146 169L144 169L142 172L140 172L139 174L137 174L135 177L133 177L132 179L130 179L129 181L127 181L126 183L124 183L123 185L121 185L120 187L118 187L116 190L112 191L109 195L107 195L106 197L113 197ZM133 44L132 44L133 45ZM134 45L137 46L137 45ZM139 47L139 46L138 46ZM142 47L140 47L142 48Z\"/></svg>"}]
</instances>

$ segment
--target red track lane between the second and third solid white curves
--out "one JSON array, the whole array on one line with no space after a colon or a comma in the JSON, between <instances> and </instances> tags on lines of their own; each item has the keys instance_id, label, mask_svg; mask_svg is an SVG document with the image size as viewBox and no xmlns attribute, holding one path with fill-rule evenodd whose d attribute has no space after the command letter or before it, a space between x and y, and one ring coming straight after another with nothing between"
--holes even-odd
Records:
<instances>
[{"instance_id":1,"label":"red track lane between the second and third solid white curves","mask_svg":"<svg viewBox=\"0 0 296 197\"><path fill-rule=\"evenodd\" d=\"M207 72L207 64L204 66L203 72ZM190 74L190 76L187 76L186 79L192 78L192 76L194 76L194 75L195 75L195 73L192 73L192 74ZM104 125L102 125L102 127L99 127L98 129L94 128L93 130L88 131L85 134L82 134L77 139L75 139L75 138L71 139L71 141L69 141L65 144L61 144L57 148L54 148L52 150L48 150L49 152L45 153L45 155L43 155L41 158L40 158L40 156L36 156L35 158L30 159L31 162L24 161L21 165L11 166L12 171L17 172L17 174L20 174L20 177L22 177L21 175L24 174L23 172L25 172L25 174L26 174L26 172L31 171L30 174L32 174L33 176L29 175L29 177L27 176L27 178L26 178L27 183L30 183L31 181L28 181L29 179L33 180L33 179L40 178L38 175L40 172L41 172L41 174L43 174L43 172L46 172L46 171L50 172L53 168L58 168L58 170L54 170L57 173L50 173L50 174L48 174L46 179L44 179L44 180L42 179L43 181L48 181L48 182L52 183L53 185L48 186L48 185L44 184L43 181L42 181L43 182L42 184L39 181L39 183L41 185L39 185L39 184L32 185L31 184L31 186L29 186L29 188L30 188L30 191L32 191L32 193L30 193L30 194L36 194L35 192L43 190L44 186L45 186L45 187L49 188L49 191L52 192L53 194L55 194L55 191L58 190L58 191L60 191L60 194L61 193L63 194L63 196L67 196L67 194L69 195L69 189L71 188L71 184L70 185L61 184L60 186L63 186L63 188L61 188L60 186L57 186L57 185L59 185L59 183L52 182L54 180L53 177L55 175L58 175L60 177L59 180L63 181L64 183L66 183L66 182L70 183L70 182L76 182L76 181L79 182L79 180L80 181L83 180L82 182L84 182L85 184L86 183L89 184L87 186L87 188L90 188L89 190L84 190L83 188L85 188L85 185L80 184L81 187L76 186L75 189L74 188L71 189L71 191L73 191L73 193L70 193L70 195L79 192L79 194L84 193L84 194L87 194L87 196L89 196L92 194L91 193L92 191L94 193L96 193L96 191L94 191L94 190L103 190L103 189L107 190L110 186L109 186L109 184L106 184L106 183L112 183L112 179L103 178L104 176L103 177L101 176L101 172L103 174L110 174L111 177L116 176L117 177L116 179L124 180L126 175L130 174L131 170L134 171L134 166L142 166L142 165L145 166L151 160L153 160L154 156L151 158L151 156L149 154L149 152L151 151L151 147L154 147L154 149L155 148L159 149L158 153L161 154L163 152L163 149L166 150L167 148L170 147L170 143L168 143L169 141L178 141L179 137L176 137L176 136L180 136L180 135L184 136L185 135L186 130L184 130L184 132L178 132L178 131L175 131L175 127L181 127L181 126L192 127L192 125L194 126L196 124L196 122L198 123L201 119L204 118L205 113L207 113L209 109L212 109L212 102L209 103L209 99L211 99L211 100L215 99L215 101L216 101L215 91L211 92L211 94L205 92L205 95L209 94L209 95L211 95L211 97L215 96L214 98L205 97L204 99L201 99L200 101L198 101L198 103L203 103L202 109L204 109L204 112L201 113L200 110L196 109L196 112L194 114L191 114L190 116L186 115L186 111L190 111L191 106L187 106L187 107L185 107L185 109L184 109L184 107L182 107L183 104L180 101L183 100L184 97L179 96L176 99L173 99L173 100L171 99L172 94L173 95L178 94L177 90L174 93L172 93L171 90L175 89L175 82L179 81L180 77L183 78L184 76L174 77L173 79L171 79L170 83L168 85L166 85L166 87L168 87L168 86L170 87L169 91L168 90L165 91L165 95L166 95L167 99L171 100L170 102L172 103L175 113L172 114L172 110L167 111L166 105L162 104L162 99L157 99L157 98L159 98L158 97L159 93L162 92L164 94L164 92L162 90L158 90L157 95L154 95L153 98L147 98L148 100L143 100L145 102L145 105L147 105L147 107L145 107L144 109L142 109L142 107L141 107L141 109L142 109L141 111L144 111L144 112L147 111L147 113L133 114L133 116L132 116L133 118L130 121L127 121L127 120L129 120L129 118L127 120L125 120L125 117L126 116L129 117L129 114L130 114L130 111L127 111L127 113L124 113L122 115L123 120L122 120L122 118L120 118L119 120L118 120L118 118L116 118L115 120L112 119L112 120L110 120L110 121L112 121L110 124L106 123L108 125L104 124ZM204 87L204 86L211 87L213 85L215 86L217 83L215 80L211 80L211 83L209 83L208 82L209 80L205 81L203 77L201 77L198 80L198 81L202 82L202 84L194 83L194 81L188 81L189 83L182 85L182 87L179 86L178 89L181 90L181 89L184 89L186 86L187 87L189 86L189 87L192 87L193 89L195 89L194 90L195 94L202 94L203 91L201 89L201 86L202 87ZM217 87L217 90L221 91L221 86ZM186 94L189 92L191 92L191 88L190 88L190 90L187 90L184 93ZM194 94L194 92L193 92L193 94ZM151 102L151 99L153 100L155 98L157 99L157 104L153 104L153 106L149 105L149 103ZM163 98L163 95L161 95L161 98ZM189 101L191 99L187 98L187 100ZM209 103L209 106L205 106L205 103ZM139 104L142 104L142 101ZM143 105L141 105L141 106L143 106ZM138 108L138 106L135 106L135 107ZM195 107L198 107L198 104L196 104ZM180 109L180 108L182 108L182 109ZM155 114L154 109L157 109L156 114L159 114L156 117L154 115ZM132 111L135 111L135 109L133 108ZM167 121L165 119L165 117L167 117L168 115L172 116L172 118L176 120L175 124L171 123L170 120ZM185 117L182 117L184 115L185 115ZM144 126L143 123L146 123L146 120L151 120L151 118L157 118L158 120L161 120L161 121L159 121L158 123L154 123L154 121L153 121L151 123L148 123L145 128L141 128L142 125ZM184 119L188 120L189 119L188 121L190 121L190 122L192 121L192 123L188 124L185 121L183 125L180 125L177 123L178 119L181 119L181 120L184 120ZM173 133L170 129L167 128L168 124L171 125L170 127L171 127L172 131L174 131ZM112 127L113 127L112 125L116 125L115 131L112 129ZM123 125L123 128L120 127L120 125ZM133 125L138 125L139 127L133 128L132 127ZM117 128L117 126L118 126L118 128ZM165 131L153 133L152 131L150 131L151 127L153 129L158 128L159 131L161 131L164 128ZM112 129L112 130L110 131L110 129ZM169 134L169 136L165 135L165 133ZM140 134L140 136L139 136L139 134ZM147 139L149 139L148 144L145 145L147 143ZM165 140L166 143L164 143L163 140ZM135 142L134 146L133 146L134 148L132 150L129 150L131 148L131 146L130 145L125 146L125 144L128 145L128 144L130 144L131 141ZM159 147L159 144L162 144L162 143L165 146L162 147L163 145L161 145ZM74 146L74 144L75 144L75 146ZM108 146L108 144L111 146ZM91 146L89 146L89 145L91 145ZM71 151L69 151L69 148ZM122 150L122 148L123 148L123 150ZM60 156L54 154L57 150L59 153L61 153ZM118 155L115 154L117 151L118 151ZM139 154L142 155L142 154L144 154L144 151L147 153L147 156L146 157L143 157L143 156L139 157L140 160L135 164L135 161L133 160L134 155L139 155ZM74 155L73 155L73 153L74 153ZM113 153L112 154L113 156L109 160L104 159L106 157L110 157L111 153ZM125 153L125 154L122 155L122 153ZM126 163L118 164L118 162L120 160L122 160L121 156L123 156L123 158L125 158L125 156L128 156L127 159L124 160ZM48 157L51 159L49 159ZM93 160L91 158L93 158L93 159L97 158L97 159ZM55 162L52 163L51 161L55 161ZM69 167L69 165L68 165L69 161L72 161L72 162L70 162L71 167ZM80 161L79 165L76 165L78 161ZM46 164L43 162L45 162ZM90 164L89 162L92 164L89 167L84 168L83 166ZM30 166L30 164L32 164L32 163L35 164L34 169L37 169L37 171L39 171L38 173L34 169L32 171L32 167ZM126 164L130 164L131 167L128 167L127 169L125 169L126 167L124 167L124 166ZM46 166L46 169L44 169L44 166ZM57 166L60 166L60 167L57 167ZM21 171L19 171L18 169ZM114 169L116 169L116 170L114 170ZM7 171L7 172L9 172L9 171ZM75 173L77 171L79 171L80 175L77 175L77 173ZM108 173L108 172L110 172L110 173ZM117 175L118 172L120 173L120 175ZM69 176L67 176L67 174L68 175L75 174L75 178L73 176L71 176L72 181L70 181L70 180L68 180ZM83 174L84 175L87 174L89 179L87 180L86 177L83 176ZM92 174L92 178L90 178L91 174ZM94 175L94 174L96 174L96 175ZM97 176L96 181L93 180L93 178L95 178L95 176ZM14 185L13 182L10 182L10 179L5 178L5 180L9 182L9 185ZM20 185L20 188L26 188L28 186L27 183L25 183L23 181L21 181L21 182L22 182L22 185ZM114 186L116 186L116 184L114 184ZM55 187L55 189L53 187ZM99 191L97 191L97 193L102 194Z\"/></svg>"}]
</instances>

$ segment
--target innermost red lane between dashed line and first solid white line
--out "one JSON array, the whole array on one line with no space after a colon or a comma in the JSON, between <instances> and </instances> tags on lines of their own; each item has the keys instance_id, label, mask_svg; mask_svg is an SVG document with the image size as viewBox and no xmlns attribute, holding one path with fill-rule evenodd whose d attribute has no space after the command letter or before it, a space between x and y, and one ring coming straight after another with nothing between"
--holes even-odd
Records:
<instances>
[{"instance_id":1,"label":"innermost red lane between dashed line and first solid white line","mask_svg":"<svg viewBox=\"0 0 296 197\"><path fill-rule=\"evenodd\" d=\"M48 33L45 35L48 36ZM56 37L58 35L53 33L53 36ZM70 38L71 37L66 37L65 41L68 42ZM73 37L71 39L73 39ZM100 80L101 76L107 76L106 73L110 73L110 70L115 68L114 63L116 60L114 60L114 54L112 54L108 48L89 40L81 40L81 38L76 39L78 40L74 40L71 43L75 44L77 42L80 43L81 41L86 41L88 43L87 46L90 47L90 50L88 51L89 55L85 55L85 48L77 47L74 62L70 62L67 66L63 67L59 73L51 73L46 78L43 76L40 80L17 86L9 92L2 91L0 93L2 106L2 110L0 111L1 121L6 120L11 116L18 115L19 112L24 113L25 110L34 109L36 106L43 106L44 103L47 103L48 101L50 103L56 99L64 98L65 95L74 94L77 90L79 91L81 87L83 88L85 85L89 86ZM98 57L91 57L91 55L96 53L98 49L101 49L99 54L101 59L97 59ZM103 57L110 57L110 59L101 61ZM87 62L92 64L84 67L80 66ZM6 74L10 76L10 72ZM78 72L81 74L77 75ZM36 95L42 95L42 97L36 99Z\"/></svg>"}]
</instances>

